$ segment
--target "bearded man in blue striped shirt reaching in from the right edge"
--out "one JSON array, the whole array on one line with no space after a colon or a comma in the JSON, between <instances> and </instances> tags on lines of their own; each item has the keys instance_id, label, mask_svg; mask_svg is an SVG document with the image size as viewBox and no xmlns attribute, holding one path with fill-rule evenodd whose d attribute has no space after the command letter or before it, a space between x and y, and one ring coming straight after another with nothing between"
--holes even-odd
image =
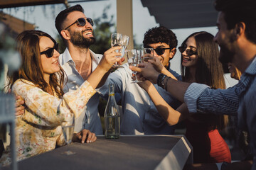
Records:
<instances>
[{"instance_id":1,"label":"bearded man in blue striped shirt reaching in from the right edge","mask_svg":"<svg viewBox=\"0 0 256 170\"><path fill-rule=\"evenodd\" d=\"M219 59L223 64L233 62L240 69L239 83L221 90L168 79L167 89L185 102L191 113L238 115L238 126L250 134L254 155L252 169L256 169L256 1L216 0L215 8L219 11L215 35L220 46ZM142 72L143 77L153 83L157 82L159 72L150 64L145 64L144 68L130 68Z\"/></svg>"}]
</instances>

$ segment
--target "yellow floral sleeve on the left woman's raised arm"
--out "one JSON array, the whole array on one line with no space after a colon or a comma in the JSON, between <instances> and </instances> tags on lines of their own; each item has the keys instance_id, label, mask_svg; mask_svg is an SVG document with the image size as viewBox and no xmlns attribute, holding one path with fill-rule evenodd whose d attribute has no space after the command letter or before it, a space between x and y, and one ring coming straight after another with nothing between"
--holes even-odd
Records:
<instances>
[{"instance_id":1,"label":"yellow floral sleeve on the left woman's raised arm","mask_svg":"<svg viewBox=\"0 0 256 170\"><path fill-rule=\"evenodd\" d=\"M63 98L52 96L29 81L17 80L13 91L21 96L26 104L22 119L36 125L55 126L63 121L62 114L74 113L78 117L95 90L85 81L79 89L70 90Z\"/></svg>"}]
</instances>

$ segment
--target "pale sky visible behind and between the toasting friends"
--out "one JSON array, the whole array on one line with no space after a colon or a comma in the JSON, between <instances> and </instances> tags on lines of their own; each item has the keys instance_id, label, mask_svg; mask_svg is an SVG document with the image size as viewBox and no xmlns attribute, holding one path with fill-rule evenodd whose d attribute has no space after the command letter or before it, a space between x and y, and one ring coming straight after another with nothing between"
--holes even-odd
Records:
<instances>
[{"instance_id":1,"label":"pale sky visible behind and between the toasting friends","mask_svg":"<svg viewBox=\"0 0 256 170\"><path fill-rule=\"evenodd\" d=\"M77 3L70 3L70 6L74 6L75 4ZM79 4L85 9L85 16L92 19L102 16L102 11L105 6L110 5L108 15L114 16L114 21L116 21L117 19L116 0L87 1L81 2ZM156 23L154 16L150 16L149 10L142 6L142 2L140 0L133 0L132 5L134 39L137 43L142 43L146 30L149 30L150 28L153 28L155 26L159 26L159 24ZM55 38L56 35L58 35L58 32L55 29L55 17L63 9L65 9L64 4L55 4L44 6L6 8L4 9L4 12L10 14L11 16L15 16L24 21L27 21L28 23L35 24L37 26L37 30L43 30L46 33L50 34L53 38ZM178 46L180 46L183 40L188 37L188 35L191 35L191 33L195 33L201 30L207 31L208 33L211 33L213 35L217 33L216 27L173 29L173 32L176 34L176 37L178 39ZM171 69L174 69L176 72L180 73L180 64L181 54L180 52L176 52L174 59L171 60ZM225 77L226 84L228 86L233 86L237 83L237 81L230 79L229 74L225 74Z\"/></svg>"}]
</instances>

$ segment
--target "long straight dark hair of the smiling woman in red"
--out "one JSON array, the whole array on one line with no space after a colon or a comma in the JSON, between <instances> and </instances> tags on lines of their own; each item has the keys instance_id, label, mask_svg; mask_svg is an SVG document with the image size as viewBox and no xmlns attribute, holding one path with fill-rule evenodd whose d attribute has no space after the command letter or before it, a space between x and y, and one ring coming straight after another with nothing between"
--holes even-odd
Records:
<instances>
[{"instance_id":1,"label":"long straight dark hair of the smiling woman in red","mask_svg":"<svg viewBox=\"0 0 256 170\"><path fill-rule=\"evenodd\" d=\"M196 62L196 82L206 84L213 89L225 89L225 80L223 77L223 67L218 60L218 44L214 42L214 36L206 31L196 32L188 36L195 38L198 62ZM185 46L186 41L181 44ZM181 55L182 57L182 55ZM181 60L182 61L182 60ZM181 64L181 76L183 81L191 79L189 67L183 67ZM228 123L228 117L223 115L204 116L211 127L222 129Z\"/></svg>"}]
</instances>

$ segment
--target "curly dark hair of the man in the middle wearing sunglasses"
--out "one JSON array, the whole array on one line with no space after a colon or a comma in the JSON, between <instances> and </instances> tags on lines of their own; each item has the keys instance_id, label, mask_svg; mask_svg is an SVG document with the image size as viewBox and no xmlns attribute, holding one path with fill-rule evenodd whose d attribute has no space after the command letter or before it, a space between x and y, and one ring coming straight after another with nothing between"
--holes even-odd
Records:
<instances>
[{"instance_id":1,"label":"curly dark hair of the man in the middle wearing sunglasses","mask_svg":"<svg viewBox=\"0 0 256 170\"><path fill-rule=\"evenodd\" d=\"M165 42L172 48L177 47L178 40L174 32L164 26L154 27L146 31L144 34L143 46L146 47L149 44Z\"/></svg>"}]
</instances>

